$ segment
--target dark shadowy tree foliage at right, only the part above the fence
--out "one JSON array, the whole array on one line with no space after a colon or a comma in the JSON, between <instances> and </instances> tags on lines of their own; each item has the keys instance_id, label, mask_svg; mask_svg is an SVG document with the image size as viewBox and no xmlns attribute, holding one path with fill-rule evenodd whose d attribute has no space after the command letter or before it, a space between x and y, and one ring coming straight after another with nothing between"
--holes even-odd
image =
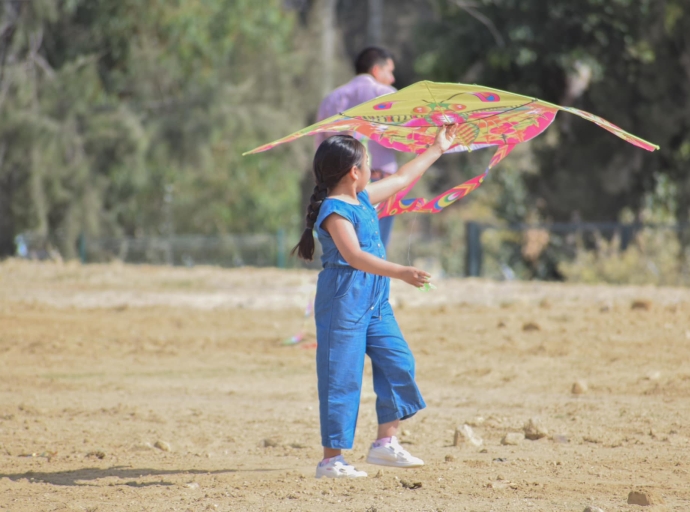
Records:
<instances>
[{"instance_id":1,"label":"dark shadowy tree foliage at right, only the part above the fence","mask_svg":"<svg viewBox=\"0 0 690 512\"><path fill-rule=\"evenodd\" d=\"M662 147L648 154L561 114L549 143L543 137L533 143L538 172L525 177L527 203L541 199L545 219L571 220L578 212L584 220L613 220L625 207L642 207L660 172L682 185L675 213L687 219L687 0L465 4L435 2L436 21L418 37L418 71L574 105Z\"/></svg>"}]
</instances>

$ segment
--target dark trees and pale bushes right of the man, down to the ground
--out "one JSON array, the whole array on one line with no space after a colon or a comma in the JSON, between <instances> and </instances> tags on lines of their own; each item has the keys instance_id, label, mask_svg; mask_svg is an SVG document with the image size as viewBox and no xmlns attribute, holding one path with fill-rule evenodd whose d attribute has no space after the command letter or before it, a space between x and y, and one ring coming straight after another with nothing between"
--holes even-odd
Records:
<instances>
[{"instance_id":1,"label":"dark trees and pale bushes right of the man, down to the ground","mask_svg":"<svg viewBox=\"0 0 690 512\"><path fill-rule=\"evenodd\" d=\"M466 209L477 212L481 204L491 212L489 219L475 215L474 220L500 226L615 221L625 214L628 222L687 222L690 2L436 0L433 5L434 19L417 34L415 69L426 78L481 83L572 105L662 148L646 153L563 113L468 198ZM617 241L600 236L594 246L588 239L577 248L571 237L551 236L538 259L527 257L530 237L542 235L485 231L484 274L501 277L501 265L507 264L521 278L668 283L686 268L682 247L690 244L685 232L644 232L620 253L613 249ZM656 238L663 243L659 249L652 248ZM656 273L650 270L657 267Z\"/></svg>"}]
</instances>

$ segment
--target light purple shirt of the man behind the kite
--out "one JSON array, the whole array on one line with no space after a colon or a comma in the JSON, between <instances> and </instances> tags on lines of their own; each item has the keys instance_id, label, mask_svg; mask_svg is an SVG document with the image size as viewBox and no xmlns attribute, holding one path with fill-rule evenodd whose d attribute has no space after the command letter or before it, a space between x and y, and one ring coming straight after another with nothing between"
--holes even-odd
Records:
<instances>
[{"instance_id":1,"label":"light purple shirt of the man behind the kite","mask_svg":"<svg viewBox=\"0 0 690 512\"><path fill-rule=\"evenodd\" d=\"M395 91L395 87L383 85L367 73L357 75L323 99L319 106L316 122L318 123L366 101L373 100L378 96ZM316 147L331 135L334 135L334 133L317 133L314 136ZM381 144L370 140L369 156L371 157L372 171L378 170L386 174L392 174L398 170L398 164L395 161L395 151L392 149L384 148Z\"/></svg>"}]
</instances>

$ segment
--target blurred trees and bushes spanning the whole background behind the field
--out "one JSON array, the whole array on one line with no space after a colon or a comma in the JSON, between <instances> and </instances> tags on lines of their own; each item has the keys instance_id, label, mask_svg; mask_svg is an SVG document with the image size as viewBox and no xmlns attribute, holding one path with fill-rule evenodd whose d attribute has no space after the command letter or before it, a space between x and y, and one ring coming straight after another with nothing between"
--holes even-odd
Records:
<instances>
[{"instance_id":1,"label":"blurred trees and bushes spanning the whole background behind the field","mask_svg":"<svg viewBox=\"0 0 690 512\"><path fill-rule=\"evenodd\" d=\"M690 0L0 0L0 255L20 233L54 240L64 258L80 236L284 230L292 241L312 141L240 154L311 124L368 44L393 52L399 88L507 89L661 146L647 153L561 114L463 202L403 216L392 256L414 247L461 274L468 220L688 222ZM417 192L456 185L489 157L449 155ZM491 230L484 244L492 277L508 266L678 284L690 262L687 229L637 230L625 252L615 234Z\"/></svg>"}]
</instances>

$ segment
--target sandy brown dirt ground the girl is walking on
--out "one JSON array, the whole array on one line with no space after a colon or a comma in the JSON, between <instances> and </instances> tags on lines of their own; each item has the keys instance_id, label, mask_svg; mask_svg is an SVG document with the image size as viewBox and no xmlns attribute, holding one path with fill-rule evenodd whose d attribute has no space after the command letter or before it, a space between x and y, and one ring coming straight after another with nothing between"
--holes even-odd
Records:
<instances>
[{"instance_id":1,"label":"sandy brown dirt ground the girl is walking on","mask_svg":"<svg viewBox=\"0 0 690 512\"><path fill-rule=\"evenodd\" d=\"M369 478L333 481L313 325L281 344L315 278L0 264L0 510L690 510L690 290L395 283L428 404L401 439L427 464L364 462L367 367L347 458ZM502 444L531 418L548 435ZM464 424L481 446L453 445Z\"/></svg>"}]
</instances>

